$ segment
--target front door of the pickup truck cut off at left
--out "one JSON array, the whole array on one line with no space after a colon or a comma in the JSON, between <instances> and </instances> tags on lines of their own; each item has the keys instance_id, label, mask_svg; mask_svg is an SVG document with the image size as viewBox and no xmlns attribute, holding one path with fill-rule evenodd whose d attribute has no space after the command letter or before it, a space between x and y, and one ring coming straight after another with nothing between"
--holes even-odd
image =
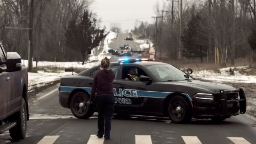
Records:
<instances>
[{"instance_id":1,"label":"front door of the pickup truck cut off at left","mask_svg":"<svg viewBox=\"0 0 256 144\"><path fill-rule=\"evenodd\" d=\"M0 119L4 118L9 113L9 81L8 73L6 72L6 62L2 47L0 47Z\"/></svg>"}]
</instances>

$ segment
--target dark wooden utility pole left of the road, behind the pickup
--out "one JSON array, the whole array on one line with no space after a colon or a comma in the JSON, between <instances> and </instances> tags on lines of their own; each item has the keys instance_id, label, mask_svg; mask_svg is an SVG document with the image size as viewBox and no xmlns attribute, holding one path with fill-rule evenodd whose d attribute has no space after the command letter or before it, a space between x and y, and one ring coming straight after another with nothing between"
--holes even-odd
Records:
<instances>
[{"instance_id":1,"label":"dark wooden utility pole left of the road, behind the pickup","mask_svg":"<svg viewBox=\"0 0 256 144\"><path fill-rule=\"evenodd\" d=\"M31 0L30 4L30 20L29 20L29 63L28 63L28 70L32 69L32 55L34 53L34 42L33 42L33 21L34 21L34 0Z\"/></svg>"}]
</instances>

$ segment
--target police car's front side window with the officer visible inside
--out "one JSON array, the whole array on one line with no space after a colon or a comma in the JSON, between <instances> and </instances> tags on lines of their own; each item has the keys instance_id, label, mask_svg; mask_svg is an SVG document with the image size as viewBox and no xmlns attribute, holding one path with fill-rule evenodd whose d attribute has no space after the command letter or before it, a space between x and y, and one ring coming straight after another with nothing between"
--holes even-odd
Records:
<instances>
[{"instance_id":1,"label":"police car's front side window with the officer visible inside","mask_svg":"<svg viewBox=\"0 0 256 144\"><path fill-rule=\"evenodd\" d=\"M131 70L133 69L133 70ZM133 72L131 72L131 71ZM130 71L130 72L129 72ZM139 77L148 76L147 73L139 67L123 66L122 79L126 81L139 81ZM131 78L134 77L134 78Z\"/></svg>"}]
</instances>

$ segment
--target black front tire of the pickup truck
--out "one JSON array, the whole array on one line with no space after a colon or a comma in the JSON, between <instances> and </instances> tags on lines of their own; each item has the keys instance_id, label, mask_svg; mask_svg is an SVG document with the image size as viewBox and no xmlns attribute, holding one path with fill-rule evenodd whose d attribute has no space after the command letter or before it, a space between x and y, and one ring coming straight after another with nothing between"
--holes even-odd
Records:
<instances>
[{"instance_id":1,"label":"black front tire of the pickup truck","mask_svg":"<svg viewBox=\"0 0 256 144\"><path fill-rule=\"evenodd\" d=\"M24 139L27 133L27 107L23 98L21 100L20 111L13 114L10 121L16 122L16 125L9 130L11 138L13 140Z\"/></svg>"}]
</instances>

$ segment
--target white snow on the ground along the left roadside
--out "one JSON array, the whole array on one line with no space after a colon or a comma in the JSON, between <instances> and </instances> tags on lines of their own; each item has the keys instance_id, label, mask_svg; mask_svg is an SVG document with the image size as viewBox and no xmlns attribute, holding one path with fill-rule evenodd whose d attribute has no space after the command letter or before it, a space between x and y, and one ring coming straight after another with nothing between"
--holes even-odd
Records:
<instances>
[{"instance_id":1,"label":"white snow on the ground along the left roadside","mask_svg":"<svg viewBox=\"0 0 256 144\"><path fill-rule=\"evenodd\" d=\"M82 65L82 62L51 62L51 61L39 61L37 63L38 67L58 67L58 68L91 68L95 65L99 65L100 61L108 57L111 58L111 55L108 54L108 45L111 43L111 40L116 38L116 33L110 31L106 36L104 41L103 50L98 54L98 57L91 55L89 61L95 62L85 62L85 65ZM28 60L22 60L22 64L28 66ZM33 61L33 67L36 66L36 62ZM28 73L28 91L33 91L34 87L41 87L48 84L51 84L54 81L58 81L60 77L71 75L71 72L66 73L65 71L58 71L57 73L48 73L47 71L37 71L37 73Z\"/></svg>"}]
</instances>

